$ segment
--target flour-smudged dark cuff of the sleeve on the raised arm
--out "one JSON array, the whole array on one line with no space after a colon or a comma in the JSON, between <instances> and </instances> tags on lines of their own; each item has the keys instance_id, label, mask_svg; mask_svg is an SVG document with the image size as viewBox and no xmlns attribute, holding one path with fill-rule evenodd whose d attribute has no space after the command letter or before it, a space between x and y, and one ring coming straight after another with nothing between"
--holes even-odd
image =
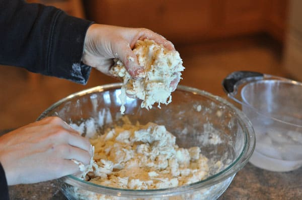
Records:
<instances>
[{"instance_id":1,"label":"flour-smudged dark cuff of the sleeve on the raised arm","mask_svg":"<svg viewBox=\"0 0 302 200\"><path fill-rule=\"evenodd\" d=\"M84 41L93 22L57 14L50 33L47 57L47 75L86 84L91 67L83 64Z\"/></svg>"}]
</instances>

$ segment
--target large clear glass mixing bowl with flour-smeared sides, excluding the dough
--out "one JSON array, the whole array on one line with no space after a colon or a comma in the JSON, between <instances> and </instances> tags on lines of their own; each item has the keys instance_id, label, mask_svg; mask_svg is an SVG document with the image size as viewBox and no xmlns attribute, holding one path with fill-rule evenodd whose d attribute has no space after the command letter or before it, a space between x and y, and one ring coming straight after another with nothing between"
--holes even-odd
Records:
<instances>
[{"instance_id":1,"label":"large clear glass mixing bowl with flour-smeared sides, excluding the dough","mask_svg":"<svg viewBox=\"0 0 302 200\"><path fill-rule=\"evenodd\" d=\"M121 84L94 87L58 101L41 114L59 116L69 124L83 128L91 135L91 126L98 134L114 124L122 123L120 114ZM180 147L199 146L209 161L206 179L188 185L153 189L120 189L84 181L76 174L58 179L68 199L216 199L230 185L235 174L248 162L255 146L255 134L248 118L226 100L207 92L178 86L172 103L150 110L140 108L140 100L127 98L126 111L131 122L154 122L165 125L176 136ZM220 161L222 167L215 163ZM77 195L74 191L80 191Z\"/></svg>"}]
</instances>

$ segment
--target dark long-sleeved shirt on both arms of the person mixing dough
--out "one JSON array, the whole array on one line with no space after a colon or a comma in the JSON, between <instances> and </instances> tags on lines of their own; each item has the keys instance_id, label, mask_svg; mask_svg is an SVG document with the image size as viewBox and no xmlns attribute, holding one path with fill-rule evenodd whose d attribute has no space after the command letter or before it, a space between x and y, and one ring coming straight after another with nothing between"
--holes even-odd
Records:
<instances>
[{"instance_id":1,"label":"dark long-sleeved shirt on both arms of the person mixing dough","mask_svg":"<svg viewBox=\"0 0 302 200\"><path fill-rule=\"evenodd\" d=\"M92 22L54 7L0 0L0 64L86 84L91 67L81 63ZM0 163L0 200L9 199Z\"/></svg>"}]
</instances>

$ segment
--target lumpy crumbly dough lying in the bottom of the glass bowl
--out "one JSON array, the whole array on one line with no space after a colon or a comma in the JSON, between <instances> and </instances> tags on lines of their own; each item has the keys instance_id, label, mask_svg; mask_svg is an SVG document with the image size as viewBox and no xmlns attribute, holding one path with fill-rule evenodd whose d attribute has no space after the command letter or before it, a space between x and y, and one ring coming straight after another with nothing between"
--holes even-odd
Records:
<instances>
[{"instance_id":1,"label":"lumpy crumbly dough lying in the bottom of the glass bowl","mask_svg":"<svg viewBox=\"0 0 302 200\"><path fill-rule=\"evenodd\" d=\"M208 159L199 147L180 148L176 137L155 123L127 122L90 141L95 153L86 180L93 183L159 189L190 184L209 174Z\"/></svg>"}]
</instances>

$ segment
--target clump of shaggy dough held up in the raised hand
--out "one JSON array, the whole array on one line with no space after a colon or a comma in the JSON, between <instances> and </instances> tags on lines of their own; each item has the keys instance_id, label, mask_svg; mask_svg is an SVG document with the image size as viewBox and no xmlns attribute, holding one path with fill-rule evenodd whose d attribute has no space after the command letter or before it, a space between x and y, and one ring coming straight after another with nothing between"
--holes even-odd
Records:
<instances>
[{"instance_id":1,"label":"clump of shaggy dough held up in the raised hand","mask_svg":"<svg viewBox=\"0 0 302 200\"><path fill-rule=\"evenodd\" d=\"M125 112L126 96L143 100L141 108L150 109L153 104L169 104L172 101L171 92L176 89L181 79L181 71L185 68L177 51L170 51L153 40L137 41L133 49L138 64L143 66L143 72L133 79L120 60L110 73L123 80L120 111ZM129 58L133 59L133 58Z\"/></svg>"}]
</instances>

